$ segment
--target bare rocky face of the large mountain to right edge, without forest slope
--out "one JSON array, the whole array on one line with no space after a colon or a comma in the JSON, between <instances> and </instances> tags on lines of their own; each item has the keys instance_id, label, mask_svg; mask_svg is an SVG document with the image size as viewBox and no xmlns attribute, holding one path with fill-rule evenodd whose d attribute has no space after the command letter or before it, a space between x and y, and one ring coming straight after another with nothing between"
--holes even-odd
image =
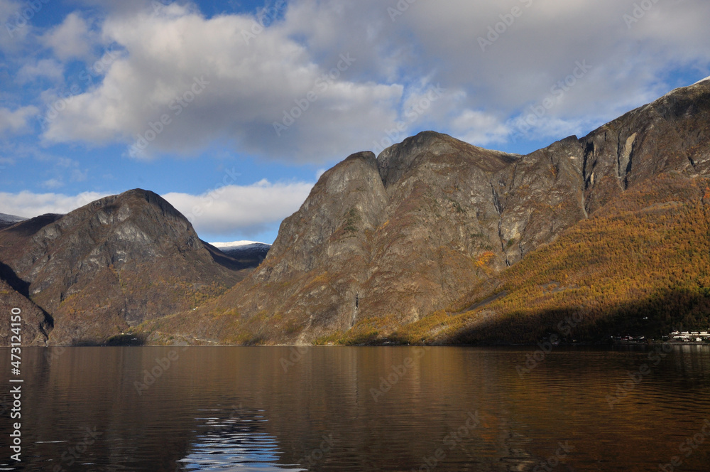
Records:
<instances>
[{"instance_id":1,"label":"bare rocky face of the large mountain to right edge, without forest slope","mask_svg":"<svg viewBox=\"0 0 710 472\"><path fill-rule=\"evenodd\" d=\"M705 81L527 156L435 132L349 156L283 221L266 261L201 312L230 313L226 331L241 334L202 334L307 343L450 308L628 188L708 173L709 124Z\"/></svg>"}]
</instances>

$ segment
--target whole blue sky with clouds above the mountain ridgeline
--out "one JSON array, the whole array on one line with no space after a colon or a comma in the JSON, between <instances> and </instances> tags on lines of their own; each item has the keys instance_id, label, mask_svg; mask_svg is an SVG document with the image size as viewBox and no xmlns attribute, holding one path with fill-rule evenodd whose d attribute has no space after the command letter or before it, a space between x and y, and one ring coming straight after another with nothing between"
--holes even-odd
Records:
<instances>
[{"instance_id":1,"label":"whole blue sky with clouds above the mountain ridgeline","mask_svg":"<svg viewBox=\"0 0 710 472\"><path fill-rule=\"evenodd\" d=\"M707 0L0 0L0 213L162 195L271 243L433 129L527 154L710 75Z\"/></svg>"}]
</instances>

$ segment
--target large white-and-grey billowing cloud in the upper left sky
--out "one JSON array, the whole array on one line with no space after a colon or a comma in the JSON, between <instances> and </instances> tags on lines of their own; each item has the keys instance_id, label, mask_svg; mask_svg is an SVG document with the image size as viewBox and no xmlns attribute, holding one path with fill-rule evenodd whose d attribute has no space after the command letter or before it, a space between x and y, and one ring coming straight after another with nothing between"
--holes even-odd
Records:
<instances>
[{"instance_id":1,"label":"large white-and-grey billowing cloud in the upper left sky","mask_svg":"<svg viewBox=\"0 0 710 472\"><path fill-rule=\"evenodd\" d=\"M126 57L100 87L67 100L44 139L136 142L147 144L139 146L146 156L221 140L272 158L326 161L394 121L403 87L351 80L359 58L349 51L317 63L279 23L261 32L254 24L176 4L109 18L104 38Z\"/></svg>"}]
</instances>

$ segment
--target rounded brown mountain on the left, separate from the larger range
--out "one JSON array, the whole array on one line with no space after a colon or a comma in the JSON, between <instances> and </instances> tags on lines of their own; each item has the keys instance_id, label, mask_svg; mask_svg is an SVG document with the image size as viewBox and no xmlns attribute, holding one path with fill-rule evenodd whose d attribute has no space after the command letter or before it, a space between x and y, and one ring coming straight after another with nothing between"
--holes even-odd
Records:
<instances>
[{"instance_id":1,"label":"rounded brown mountain on the left, separate from the larger range","mask_svg":"<svg viewBox=\"0 0 710 472\"><path fill-rule=\"evenodd\" d=\"M103 343L244 275L170 203L136 189L0 230L0 260L53 318L53 344Z\"/></svg>"}]
</instances>

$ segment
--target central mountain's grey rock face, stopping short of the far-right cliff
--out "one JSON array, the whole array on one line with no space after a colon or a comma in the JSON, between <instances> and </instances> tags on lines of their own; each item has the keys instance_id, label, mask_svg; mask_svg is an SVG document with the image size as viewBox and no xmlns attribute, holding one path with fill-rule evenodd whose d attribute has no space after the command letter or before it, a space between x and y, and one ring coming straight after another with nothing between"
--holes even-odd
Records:
<instances>
[{"instance_id":1,"label":"central mountain's grey rock face, stopping short of the far-right cliff","mask_svg":"<svg viewBox=\"0 0 710 472\"><path fill-rule=\"evenodd\" d=\"M371 318L418 321L584 218L581 171L562 154L521 157L435 132L377 159L354 154L324 173L220 306L247 319L278 313L261 336L291 331L288 342Z\"/></svg>"}]
</instances>

